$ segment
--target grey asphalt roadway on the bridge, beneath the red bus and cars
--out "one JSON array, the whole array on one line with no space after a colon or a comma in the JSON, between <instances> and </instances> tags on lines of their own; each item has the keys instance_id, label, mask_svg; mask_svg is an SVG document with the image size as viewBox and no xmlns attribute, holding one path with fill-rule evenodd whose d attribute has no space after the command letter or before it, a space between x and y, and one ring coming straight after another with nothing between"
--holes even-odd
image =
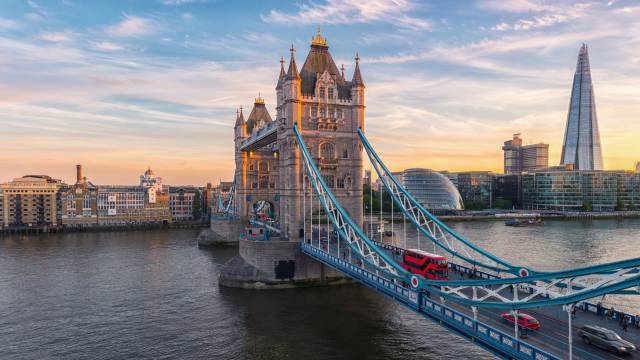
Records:
<instances>
[{"instance_id":1,"label":"grey asphalt roadway on the bridge, beneath the red bus and cars","mask_svg":"<svg viewBox=\"0 0 640 360\"><path fill-rule=\"evenodd\" d=\"M317 230L314 231L314 233L315 239L317 239ZM321 246L324 251L327 251L326 232L322 231L322 233L323 241ZM315 244L317 244L317 242L315 242ZM332 240L329 249L329 253L334 256L341 257L345 260L349 258L348 246L346 244L340 244L340 251L338 251L337 243L335 242L335 240ZM388 250L387 253L393 256L396 261L401 261L398 254ZM355 263L356 261L353 260L352 262ZM374 269L370 270L375 271ZM450 269L449 274L451 279L461 278L461 272ZM526 293L522 291L520 291L519 294L522 294L523 297L526 295ZM438 299L434 298L433 300ZM463 314L466 314L469 317L473 317L473 311L469 307L462 306L454 301L447 301L446 305ZM500 317L502 313L508 311L509 310L507 308L505 308L505 310L503 311L500 311L498 309L478 309L478 321L481 321L489 326L494 327L497 330L501 330L513 336L515 330L513 324L507 323ZM541 325L539 330L527 332L527 338L525 339L526 342L551 354L559 355L563 358L568 357L568 315L561 306L527 309L525 311L522 311L522 313L526 313L535 317ZM635 326L629 325L627 331L624 332L618 320L611 320L605 316L596 315L594 313L578 309L576 312L576 317L572 319L573 359L640 359L640 354L638 354L638 352L624 356L608 352L593 345L586 344L578 336L578 330L583 325L602 326L614 330L624 339L636 344L636 346L640 344L640 329L636 328Z\"/></svg>"}]
</instances>

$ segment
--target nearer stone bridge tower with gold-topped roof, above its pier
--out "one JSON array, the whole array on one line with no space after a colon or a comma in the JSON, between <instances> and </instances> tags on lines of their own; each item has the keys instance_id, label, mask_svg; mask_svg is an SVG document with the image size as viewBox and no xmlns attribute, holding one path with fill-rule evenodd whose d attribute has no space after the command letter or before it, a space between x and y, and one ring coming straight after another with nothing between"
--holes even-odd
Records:
<instances>
[{"instance_id":1,"label":"nearer stone bridge tower with gold-topped roof, above its pier","mask_svg":"<svg viewBox=\"0 0 640 360\"><path fill-rule=\"evenodd\" d=\"M281 66L276 86L280 227L290 241L301 240L303 225L304 169L294 124L301 129L325 181L356 224L362 226L363 169L358 128L364 129L364 82L359 60L356 55L353 77L348 81L344 66L338 69L327 40L318 31L300 70L293 47L286 73Z\"/></svg>"}]
</instances>

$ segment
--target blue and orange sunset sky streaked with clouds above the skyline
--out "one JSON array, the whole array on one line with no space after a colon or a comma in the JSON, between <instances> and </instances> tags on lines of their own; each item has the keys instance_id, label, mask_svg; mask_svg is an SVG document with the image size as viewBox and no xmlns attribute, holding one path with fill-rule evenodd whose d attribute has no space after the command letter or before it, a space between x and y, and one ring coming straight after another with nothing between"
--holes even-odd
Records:
<instances>
[{"instance_id":1,"label":"blue and orange sunset sky streaked with clouds above the skyline","mask_svg":"<svg viewBox=\"0 0 640 360\"><path fill-rule=\"evenodd\" d=\"M513 133L558 164L583 42L605 168L640 160L638 1L3 0L0 182L230 180L236 109L260 93L273 117L279 59L301 66L318 26L349 78L359 53L394 171L502 172Z\"/></svg>"}]
</instances>

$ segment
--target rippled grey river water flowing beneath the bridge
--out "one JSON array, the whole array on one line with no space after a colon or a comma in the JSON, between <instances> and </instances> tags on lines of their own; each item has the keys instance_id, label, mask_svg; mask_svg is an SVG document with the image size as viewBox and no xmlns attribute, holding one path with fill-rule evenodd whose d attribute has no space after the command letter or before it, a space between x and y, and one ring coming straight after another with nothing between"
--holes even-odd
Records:
<instances>
[{"instance_id":1,"label":"rippled grey river water flowing beneath the bridge","mask_svg":"<svg viewBox=\"0 0 640 360\"><path fill-rule=\"evenodd\" d=\"M452 226L541 270L640 256L639 220ZM0 359L493 358L359 285L220 288L219 268L237 248L199 249L196 235L0 237ZM417 245L415 233L408 241Z\"/></svg>"}]
</instances>

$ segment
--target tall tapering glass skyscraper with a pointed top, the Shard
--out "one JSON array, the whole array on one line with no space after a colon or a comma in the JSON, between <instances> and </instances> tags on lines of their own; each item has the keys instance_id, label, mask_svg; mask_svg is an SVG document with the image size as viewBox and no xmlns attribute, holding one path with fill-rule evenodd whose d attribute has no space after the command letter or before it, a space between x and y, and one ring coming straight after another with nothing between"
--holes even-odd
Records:
<instances>
[{"instance_id":1,"label":"tall tapering glass skyscraper with a pointed top, the Shard","mask_svg":"<svg viewBox=\"0 0 640 360\"><path fill-rule=\"evenodd\" d=\"M580 48L576 73L573 76L560 164L573 164L575 170L602 170L603 168L598 116L586 44L582 44Z\"/></svg>"}]
</instances>

